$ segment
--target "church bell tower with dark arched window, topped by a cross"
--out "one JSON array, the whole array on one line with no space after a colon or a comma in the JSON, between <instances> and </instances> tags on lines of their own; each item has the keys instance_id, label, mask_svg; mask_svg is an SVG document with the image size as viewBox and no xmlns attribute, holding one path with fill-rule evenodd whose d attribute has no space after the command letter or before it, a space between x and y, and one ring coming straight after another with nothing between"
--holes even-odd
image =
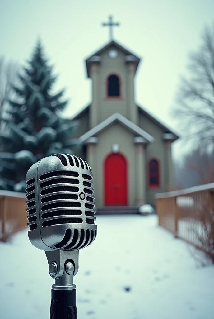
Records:
<instances>
[{"instance_id":1,"label":"church bell tower with dark arched window, topped by a cross","mask_svg":"<svg viewBox=\"0 0 214 319\"><path fill-rule=\"evenodd\" d=\"M110 37L112 26L110 17ZM105 47L86 60L88 77L92 79L92 103L89 107L89 127L93 128L114 113L120 113L138 123L134 100L134 76L140 59L111 39Z\"/></svg>"}]
</instances>

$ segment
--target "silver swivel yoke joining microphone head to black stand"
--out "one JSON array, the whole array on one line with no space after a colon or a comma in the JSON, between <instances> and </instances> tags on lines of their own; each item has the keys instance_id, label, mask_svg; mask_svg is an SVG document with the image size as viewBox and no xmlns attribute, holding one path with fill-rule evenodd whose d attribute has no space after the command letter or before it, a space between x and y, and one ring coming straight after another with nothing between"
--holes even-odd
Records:
<instances>
[{"instance_id":1,"label":"silver swivel yoke joining microphone head to black stand","mask_svg":"<svg viewBox=\"0 0 214 319\"><path fill-rule=\"evenodd\" d=\"M46 251L49 265L49 274L55 279L52 285L54 290L72 290L76 286L73 284L73 277L78 271L79 250L65 251L55 249Z\"/></svg>"}]
</instances>

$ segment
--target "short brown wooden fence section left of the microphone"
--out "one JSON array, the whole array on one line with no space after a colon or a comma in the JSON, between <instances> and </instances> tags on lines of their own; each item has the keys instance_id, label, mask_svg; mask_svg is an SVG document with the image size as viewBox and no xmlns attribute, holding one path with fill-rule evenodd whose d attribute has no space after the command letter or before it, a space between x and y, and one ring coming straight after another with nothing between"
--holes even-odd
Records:
<instances>
[{"instance_id":1,"label":"short brown wooden fence section left of the microphone","mask_svg":"<svg viewBox=\"0 0 214 319\"><path fill-rule=\"evenodd\" d=\"M27 226L25 193L0 190L0 241Z\"/></svg>"}]
</instances>

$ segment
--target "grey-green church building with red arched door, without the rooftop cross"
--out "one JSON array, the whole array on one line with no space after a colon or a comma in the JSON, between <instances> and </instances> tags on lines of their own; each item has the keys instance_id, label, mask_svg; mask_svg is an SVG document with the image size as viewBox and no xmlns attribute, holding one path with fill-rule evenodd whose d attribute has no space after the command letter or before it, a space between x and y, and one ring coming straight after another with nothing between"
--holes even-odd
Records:
<instances>
[{"instance_id":1,"label":"grey-green church building with red arched door, without the rooftop cross","mask_svg":"<svg viewBox=\"0 0 214 319\"><path fill-rule=\"evenodd\" d=\"M173 186L171 143L178 136L136 105L140 59L111 41L86 60L92 102L80 120L75 155L93 172L96 206L154 205L154 194Z\"/></svg>"}]
</instances>

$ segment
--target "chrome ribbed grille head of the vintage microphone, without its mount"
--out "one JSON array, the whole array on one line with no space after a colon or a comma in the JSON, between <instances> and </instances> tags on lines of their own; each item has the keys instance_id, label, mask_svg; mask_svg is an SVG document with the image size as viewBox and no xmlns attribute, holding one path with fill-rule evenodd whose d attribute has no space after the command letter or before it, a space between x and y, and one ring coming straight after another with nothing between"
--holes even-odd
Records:
<instances>
[{"instance_id":1,"label":"chrome ribbed grille head of the vintage microphone, without its mount","mask_svg":"<svg viewBox=\"0 0 214 319\"><path fill-rule=\"evenodd\" d=\"M54 154L26 174L31 243L45 251L77 250L96 238L92 171L82 159Z\"/></svg>"}]
</instances>

